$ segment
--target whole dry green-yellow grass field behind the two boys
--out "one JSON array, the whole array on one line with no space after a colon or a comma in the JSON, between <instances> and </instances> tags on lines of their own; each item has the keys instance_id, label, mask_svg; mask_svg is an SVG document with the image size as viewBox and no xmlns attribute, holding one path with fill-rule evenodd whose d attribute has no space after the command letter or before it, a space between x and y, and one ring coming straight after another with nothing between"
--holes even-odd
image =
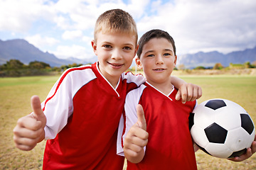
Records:
<instances>
[{"instance_id":1,"label":"whole dry green-yellow grass field behind the two boys","mask_svg":"<svg viewBox=\"0 0 256 170\"><path fill-rule=\"evenodd\" d=\"M256 76L181 76L198 84L203 96L198 103L210 98L226 98L239 103L256 123ZM31 112L30 98L46 98L58 77L0 78L0 169L41 169L45 142L30 152L16 149L13 132L16 121ZM244 162L230 162L196 152L198 169L256 169L256 154Z\"/></svg>"}]
</instances>

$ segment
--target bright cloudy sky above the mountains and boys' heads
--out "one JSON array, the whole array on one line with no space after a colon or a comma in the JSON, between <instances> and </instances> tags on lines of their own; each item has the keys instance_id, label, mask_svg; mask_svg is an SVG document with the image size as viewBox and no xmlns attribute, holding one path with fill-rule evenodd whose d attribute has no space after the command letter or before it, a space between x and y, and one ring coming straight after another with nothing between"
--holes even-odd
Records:
<instances>
[{"instance_id":1,"label":"bright cloudy sky above the mountains and boys' heads","mask_svg":"<svg viewBox=\"0 0 256 170\"><path fill-rule=\"evenodd\" d=\"M90 58L97 17L112 8L132 15L139 38L166 30L177 55L256 46L255 0L0 0L0 40L24 39L62 59Z\"/></svg>"}]
</instances>

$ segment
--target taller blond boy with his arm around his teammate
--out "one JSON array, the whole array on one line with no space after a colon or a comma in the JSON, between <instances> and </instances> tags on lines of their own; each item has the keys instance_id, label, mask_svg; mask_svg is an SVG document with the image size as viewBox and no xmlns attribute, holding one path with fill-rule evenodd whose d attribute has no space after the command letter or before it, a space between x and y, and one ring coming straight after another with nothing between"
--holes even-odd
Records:
<instances>
[{"instance_id":1,"label":"taller blond boy with his arm around his teammate","mask_svg":"<svg viewBox=\"0 0 256 170\"><path fill-rule=\"evenodd\" d=\"M142 75L124 74L137 52L136 24L125 11L106 11L97 19L94 39L98 62L66 70L46 101L31 98L33 113L14 128L19 149L47 140L43 169L122 169L124 158L116 154L119 118L127 92L145 81Z\"/></svg>"}]
</instances>

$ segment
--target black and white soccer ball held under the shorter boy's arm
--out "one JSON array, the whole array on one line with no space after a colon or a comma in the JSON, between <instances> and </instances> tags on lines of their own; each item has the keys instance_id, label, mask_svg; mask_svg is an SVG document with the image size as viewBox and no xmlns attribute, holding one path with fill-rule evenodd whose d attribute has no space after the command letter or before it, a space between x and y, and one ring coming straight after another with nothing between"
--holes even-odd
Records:
<instances>
[{"instance_id":1,"label":"black and white soccer ball held under the shorter boy's arm","mask_svg":"<svg viewBox=\"0 0 256 170\"><path fill-rule=\"evenodd\" d=\"M246 152L255 138L250 115L237 103L222 98L196 106L189 123L193 141L213 157L238 157Z\"/></svg>"}]
</instances>

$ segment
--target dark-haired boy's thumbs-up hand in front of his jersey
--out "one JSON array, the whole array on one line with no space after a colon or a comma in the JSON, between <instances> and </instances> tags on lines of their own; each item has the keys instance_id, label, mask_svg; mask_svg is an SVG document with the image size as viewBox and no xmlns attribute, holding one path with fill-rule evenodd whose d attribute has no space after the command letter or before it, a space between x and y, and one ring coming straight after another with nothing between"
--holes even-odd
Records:
<instances>
[{"instance_id":1,"label":"dark-haired boy's thumbs-up hand in front of his jersey","mask_svg":"<svg viewBox=\"0 0 256 170\"><path fill-rule=\"evenodd\" d=\"M142 161L144 147L148 142L149 133L146 132L146 119L141 105L137 105L137 123L129 129L124 139L124 156L134 164Z\"/></svg>"}]
</instances>

